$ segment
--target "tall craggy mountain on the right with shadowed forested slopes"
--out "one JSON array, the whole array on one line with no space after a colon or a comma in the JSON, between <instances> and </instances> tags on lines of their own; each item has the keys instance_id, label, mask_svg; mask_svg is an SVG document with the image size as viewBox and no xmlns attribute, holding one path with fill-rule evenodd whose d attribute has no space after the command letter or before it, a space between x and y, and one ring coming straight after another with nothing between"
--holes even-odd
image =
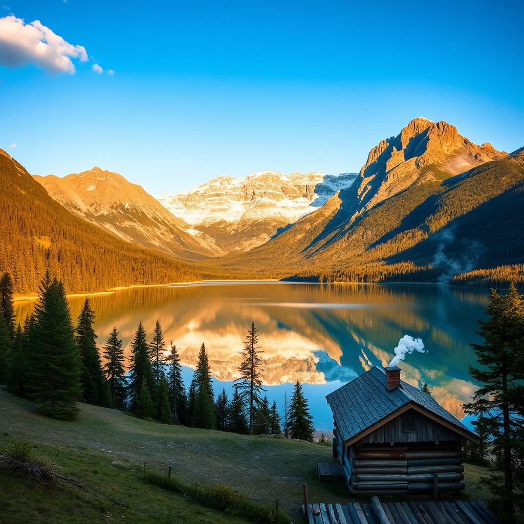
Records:
<instances>
[{"instance_id":1,"label":"tall craggy mountain on the right with shadowed forested slopes","mask_svg":"<svg viewBox=\"0 0 524 524\"><path fill-rule=\"evenodd\" d=\"M413 121L370 152L359 183L265 245L219 263L297 279L456 283L485 282L495 273L471 271L508 266L496 281L524 282L515 266L524 262L523 153L475 146L452 127ZM409 158L376 168L398 157L399 140Z\"/></svg>"}]
</instances>

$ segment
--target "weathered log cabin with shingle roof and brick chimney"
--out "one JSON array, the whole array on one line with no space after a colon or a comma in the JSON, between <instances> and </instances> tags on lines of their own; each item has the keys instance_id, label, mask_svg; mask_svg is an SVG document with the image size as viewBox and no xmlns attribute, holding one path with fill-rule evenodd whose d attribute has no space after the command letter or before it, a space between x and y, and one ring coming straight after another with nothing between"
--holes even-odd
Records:
<instances>
[{"instance_id":1,"label":"weathered log cabin with shingle roof and brick chimney","mask_svg":"<svg viewBox=\"0 0 524 524\"><path fill-rule=\"evenodd\" d=\"M352 493L464 489L463 446L477 436L430 394L400 380L399 367L372 367L326 399L333 458Z\"/></svg>"}]
</instances>

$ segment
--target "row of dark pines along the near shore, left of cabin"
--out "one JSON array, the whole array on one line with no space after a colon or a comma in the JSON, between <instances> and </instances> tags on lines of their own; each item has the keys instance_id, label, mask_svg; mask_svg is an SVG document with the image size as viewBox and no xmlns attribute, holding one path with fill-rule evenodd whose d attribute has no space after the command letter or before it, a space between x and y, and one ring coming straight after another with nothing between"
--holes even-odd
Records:
<instances>
[{"instance_id":1,"label":"row of dark pines along the near shore, left of cabin","mask_svg":"<svg viewBox=\"0 0 524 524\"><path fill-rule=\"evenodd\" d=\"M129 372L115 326L103 345L102 359L94 330L95 312L85 299L73 326L61 280L46 271L34 311L15 325L13 281L0 279L0 384L37 403L38 410L60 419L74 419L77 401L129 410L163 424L185 424L242 434L284 434L313 440L313 423L300 381L287 405L285 423L277 403L269 405L262 386L264 361L259 334L251 324L235 381L228 398L225 388L215 399L211 370L202 343L193 378L186 391L176 345L166 348L157 321L148 342L140 322L131 343Z\"/></svg>"}]
</instances>

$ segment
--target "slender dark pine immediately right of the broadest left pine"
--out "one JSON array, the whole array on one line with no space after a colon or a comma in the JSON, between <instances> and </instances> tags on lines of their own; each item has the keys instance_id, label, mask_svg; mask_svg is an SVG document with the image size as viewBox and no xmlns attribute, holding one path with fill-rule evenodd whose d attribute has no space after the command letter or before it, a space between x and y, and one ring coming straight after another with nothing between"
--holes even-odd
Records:
<instances>
[{"instance_id":1,"label":"slender dark pine immediately right of the broadest left pine","mask_svg":"<svg viewBox=\"0 0 524 524\"><path fill-rule=\"evenodd\" d=\"M77 345L80 351L82 401L102 406L105 396L105 380L102 373L100 354L96 347L97 335L93 329L95 313L89 298L85 299L76 329Z\"/></svg>"}]
</instances>

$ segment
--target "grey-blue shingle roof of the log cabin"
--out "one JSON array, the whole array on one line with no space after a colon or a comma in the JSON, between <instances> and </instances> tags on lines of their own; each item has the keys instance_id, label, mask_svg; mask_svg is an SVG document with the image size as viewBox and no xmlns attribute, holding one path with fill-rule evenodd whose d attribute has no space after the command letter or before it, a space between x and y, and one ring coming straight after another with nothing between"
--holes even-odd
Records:
<instances>
[{"instance_id":1,"label":"grey-blue shingle roof of the log cabin","mask_svg":"<svg viewBox=\"0 0 524 524\"><path fill-rule=\"evenodd\" d=\"M431 395L424 393L419 388L401 380L400 387L388 391L385 372L377 366L326 395L326 399L328 399L344 442L409 402L415 402L422 408L471 433Z\"/></svg>"}]
</instances>

